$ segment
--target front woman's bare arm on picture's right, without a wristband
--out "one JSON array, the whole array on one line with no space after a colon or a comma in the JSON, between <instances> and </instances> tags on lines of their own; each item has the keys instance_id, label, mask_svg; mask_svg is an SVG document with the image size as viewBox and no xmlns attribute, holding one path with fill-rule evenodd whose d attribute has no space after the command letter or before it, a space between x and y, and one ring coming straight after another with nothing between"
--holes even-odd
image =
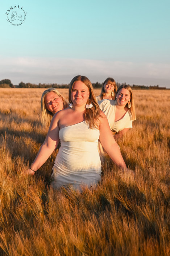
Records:
<instances>
[{"instance_id":1,"label":"front woman's bare arm on picture's right, without a wristband","mask_svg":"<svg viewBox=\"0 0 170 256\"><path fill-rule=\"evenodd\" d=\"M101 116L103 117L103 118L100 118L100 126L99 126L99 130L100 130L99 140L101 142L101 145L104 147L109 157L113 160L113 162L117 166L123 169L127 169L127 166L120 153L120 149L115 139L113 138L107 117L103 112L101 112Z\"/></svg>"}]
</instances>

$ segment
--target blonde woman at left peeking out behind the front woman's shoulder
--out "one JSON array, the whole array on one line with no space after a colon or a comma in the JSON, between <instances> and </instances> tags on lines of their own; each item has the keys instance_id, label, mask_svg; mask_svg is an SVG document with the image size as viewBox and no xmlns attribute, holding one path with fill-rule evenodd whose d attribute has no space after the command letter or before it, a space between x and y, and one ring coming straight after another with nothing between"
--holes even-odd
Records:
<instances>
[{"instance_id":1,"label":"blonde woman at left peeking out behind the front woman's shoulder","mask_svg":"<svg viewBox=\"0 0 170 256\"><path fill-rule=\"evenodd\" d=\"M45 90L41 97L41 118L44 127L50 126L50 122L55 113L66 109L69 106L65 97L63 97L55 88Z\"/></svg>"}]
</instances>

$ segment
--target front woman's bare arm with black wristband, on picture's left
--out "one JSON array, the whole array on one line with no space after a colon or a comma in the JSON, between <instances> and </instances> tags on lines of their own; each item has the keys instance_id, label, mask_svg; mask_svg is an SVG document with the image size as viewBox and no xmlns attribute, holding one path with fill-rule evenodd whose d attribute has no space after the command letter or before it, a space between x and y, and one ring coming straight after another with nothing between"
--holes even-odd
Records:
<instances>
[{"instance_id":1,"label":"front woman's bare arm with black wristband, on picture's left","mask_svg":"<svg viewBox=\"0 0 170 256\"><path fill-rule=\"evenodd\" d=\"M51 120L49 131L47 133L46 139L38 154L31 166L34 171L37 171L43 163L49 158L49 156L53 153L54 149L56 149L58 142L59 142L59 119L58 115L54 115L53 119ZM31 169L26 170L26 174L34 175L34 171Z\"/></svg>"}]
</instances>

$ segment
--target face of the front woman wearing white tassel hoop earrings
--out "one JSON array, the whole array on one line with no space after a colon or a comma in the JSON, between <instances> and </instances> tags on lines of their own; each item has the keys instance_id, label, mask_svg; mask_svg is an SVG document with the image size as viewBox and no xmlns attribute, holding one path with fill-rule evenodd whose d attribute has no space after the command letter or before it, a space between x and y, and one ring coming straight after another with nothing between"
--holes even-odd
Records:
<instances>
[{"instance_id":1,"label":"face of the front woman wearing white tassel hoop earrings","mask_svg":"<svg viewBox=\"0 0 170 256\"><path fill-rule=\"evenodd\" d=\"M71 101L75 106L86 105L90 96L89 89L82 81L76 81L71 92Z\"/></svg>"}]
</instances>

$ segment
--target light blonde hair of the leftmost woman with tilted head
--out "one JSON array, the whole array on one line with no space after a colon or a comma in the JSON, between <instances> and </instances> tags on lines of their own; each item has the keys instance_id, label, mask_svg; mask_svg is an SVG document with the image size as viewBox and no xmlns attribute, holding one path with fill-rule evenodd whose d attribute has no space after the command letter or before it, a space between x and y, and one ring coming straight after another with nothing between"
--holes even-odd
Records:
<instances>
[{"instance_id":1,"label":"light blonde hair of the leftmost woman with tilted head","mask_svg":"<svg viewBox=\"0 0 170 256\"><path fill-rule=\"evenodd\" d=\"M42 119L42 124L43 126L45 127L49 127L50 125L50 122L51 122L51 119L53 118L54 114L49 111L45 105L45 96L47 94L49 94L50 92L54 92L56 93L60 98L62 98L62 101L63 101L63 107L64 109L66 109L69 104L68 102L66 101L65 97L63 97L59 92L58 90L56 90L55 88L49 88L47 90L45 90L42 94L42 97L41 97L41 119Z\"/></svg>"}]
</instances>

